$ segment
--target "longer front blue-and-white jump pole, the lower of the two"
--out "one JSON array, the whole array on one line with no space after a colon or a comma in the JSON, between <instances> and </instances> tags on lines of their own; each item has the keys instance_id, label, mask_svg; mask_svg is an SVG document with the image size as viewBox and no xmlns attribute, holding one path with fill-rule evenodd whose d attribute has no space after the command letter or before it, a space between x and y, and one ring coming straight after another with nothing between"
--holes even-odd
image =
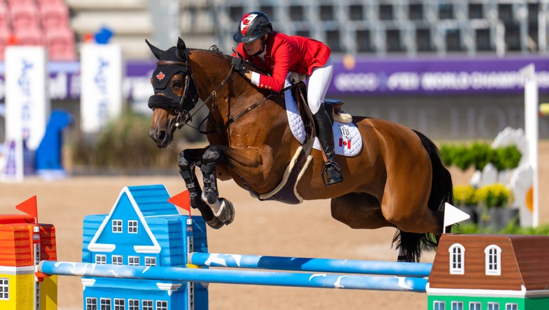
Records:
<instances>
[{"instance_id":1,"label":"longer front blue-and-white jump pole, the lower of the two","mask_svg":"<svg viewBox=\"0 0 549 310\"><path fill-rule=\"evenodd\" d=\"M38 272L49 275L55 274L98 278L187 281L201 283L320 287L328 289L425 292L425 285L427 285L427 278L410 278L401 276L391 277L321 273L261 272L253 270L145 267L54 261L40 262L37 270Z\"/></svg>"}]
</instances>

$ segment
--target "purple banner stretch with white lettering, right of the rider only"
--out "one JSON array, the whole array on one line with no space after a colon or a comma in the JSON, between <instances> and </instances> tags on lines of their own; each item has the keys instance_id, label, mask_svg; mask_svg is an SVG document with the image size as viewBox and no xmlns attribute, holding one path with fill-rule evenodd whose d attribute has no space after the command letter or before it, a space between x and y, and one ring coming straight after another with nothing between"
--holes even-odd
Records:
<instances>
[{"instance_id":1,"label":"purple banner stretch with white lettering, right of the rider only","mask_svg":"<svg viewBox=\"0 0 549 310\"><path fill-rule=\"evenodd\" d=\"M549 58L353 58L334 60L328 93L406 95L435 93L520 92L518 70L534 63L540 92L549 91Z\"/></svg>"}]
</instances>

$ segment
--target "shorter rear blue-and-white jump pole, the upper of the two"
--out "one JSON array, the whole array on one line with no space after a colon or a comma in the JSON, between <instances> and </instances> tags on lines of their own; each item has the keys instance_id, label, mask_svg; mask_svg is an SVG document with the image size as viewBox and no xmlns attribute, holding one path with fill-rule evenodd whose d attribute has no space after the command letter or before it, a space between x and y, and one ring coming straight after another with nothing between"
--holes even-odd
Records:
<instances>
[{"instance_id":1,"label":"shorter rear blue-and-white jump pole, the upper of the two","mask_svg":"<svg viewBox=\"0 0 549 310\"><path fill-rule=\"evenodd\" d=\"M433 264L430 263L355 261L352 259L280 257L198 252L190 253L188 262L198 266L209 267L394 276L429 276L431 268L433 267Z\"/></svg>"}]
</instances>

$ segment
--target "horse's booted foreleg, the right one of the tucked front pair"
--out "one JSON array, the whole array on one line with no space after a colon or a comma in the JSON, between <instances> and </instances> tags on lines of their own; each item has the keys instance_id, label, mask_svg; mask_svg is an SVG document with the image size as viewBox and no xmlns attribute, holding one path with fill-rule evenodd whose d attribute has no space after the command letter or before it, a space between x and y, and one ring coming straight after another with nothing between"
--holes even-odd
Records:
<instances>
[{"instance_id":1,"label":"horse's booted foreleg, the right one of the tucked front pair","mask_svg":"<svg viewBox=\"0 0 549 310\"><path fill-rule=\"evenodd\" d=\"M210 145L202 156L200 171L202 172L202 180L204 181L202 200L208 203L216 218L223 222L223 224L228 225L233 222L234 207L230 201L225 198L219 198L215 172L217 163L222 160L223 148L220 145Z\"/></svg>"}]
</instances>

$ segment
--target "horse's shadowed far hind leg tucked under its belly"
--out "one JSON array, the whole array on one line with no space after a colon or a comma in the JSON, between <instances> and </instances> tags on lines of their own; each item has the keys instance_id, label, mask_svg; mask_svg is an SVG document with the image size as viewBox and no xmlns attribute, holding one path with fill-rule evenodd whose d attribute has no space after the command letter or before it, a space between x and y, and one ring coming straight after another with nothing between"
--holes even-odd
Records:
<instances>
[{"instance_id":1,"label":"horse's shadowed far hind leg tucked under its belly","mask_svg":"<svg viewBox=\"0 0 549 310\"><path fill-rule=\"evenodd\" d=\"M379 200L368 193L348 193L332 198L332 217L354 229L396 227L387 222L381 212Z\"/></svg>"}]
</instances>

